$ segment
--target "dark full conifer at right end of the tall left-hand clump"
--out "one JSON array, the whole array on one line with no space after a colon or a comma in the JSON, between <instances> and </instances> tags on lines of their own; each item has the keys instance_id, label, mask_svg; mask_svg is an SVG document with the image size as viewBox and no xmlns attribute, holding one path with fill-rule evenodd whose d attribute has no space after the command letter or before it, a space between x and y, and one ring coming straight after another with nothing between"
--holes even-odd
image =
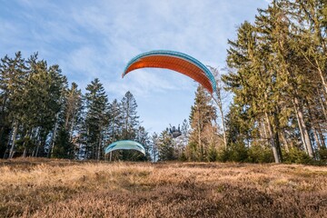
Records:
<instances>
[{"instance_id":1,"label":"dark full conifer at right end of the tall left-hand clump","mask_svg":"<svg viewBox=\"0 0 327 218\"><path fill-rule=\"evenodd\" d=\"M58 122L57 114L63 107L63 95L67 82L58 65L47 66L44 60L37 61L37 56L28 60L29 75L25 86L23 108L25 133L35 142L32 155L45 155L48 134Z\"/></svg>"}]
</instances>

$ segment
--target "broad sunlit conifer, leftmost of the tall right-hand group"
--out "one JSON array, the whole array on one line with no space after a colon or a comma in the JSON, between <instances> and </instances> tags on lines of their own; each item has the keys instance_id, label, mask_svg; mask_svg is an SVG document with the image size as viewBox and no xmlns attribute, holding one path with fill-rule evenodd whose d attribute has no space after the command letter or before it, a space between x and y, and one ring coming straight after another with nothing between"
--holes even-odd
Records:
<instances>
[{"instance_id":1,"label":"broad sunlit conifer, leftmost of the tall right-hand group","mask_svg":"<svg viewBox=\"0 0 327 218\"><path fill-rule=\"evenodd\" d=\"M238 39L229 41L227 63L235 73L224 75L223 80L233 91L234 103L245 106L243 110L255 119L253 129L260 120L265 119L272 145L275 162L282 161L277 134L278 93L276 75L270 65L270 47L261 45L255 27L247 22L238 29Z\"/></svg>"}]
</instances>

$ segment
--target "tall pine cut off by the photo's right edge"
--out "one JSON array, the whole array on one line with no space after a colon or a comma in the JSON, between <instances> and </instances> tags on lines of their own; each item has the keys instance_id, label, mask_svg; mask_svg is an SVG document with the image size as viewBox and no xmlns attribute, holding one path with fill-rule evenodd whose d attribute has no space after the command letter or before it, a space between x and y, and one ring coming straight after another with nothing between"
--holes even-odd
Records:
<instances>
[{"instance_id":1,"label":"tall pine cut off by the photo's right edge","mask_svg":"<svg viewBox=\"0 0 327 218\"><path fill-rule=\"evenodd\" d=\"M308 129L307 132L311 132L309 134L314 134L316 147L321 149L321 144L324 144L321 133L325 131L323 126L327 120L325 101L327 97L326 2L322 0L305 2L279 0L275 5L283 8L284 16L292 21L293 43L289 46L296 55L295 65L298 65L302 72L300 76L297 76L297 82L301 87L299 96L297 96L300 100L297 101L300 102L297 108L297 117L302 133L302 142L306 145L304 148L307 147L306 151L312 153L309 137L305 130ZM302 94L302 91L305 93Z\"/></svg>"}]
</instances>

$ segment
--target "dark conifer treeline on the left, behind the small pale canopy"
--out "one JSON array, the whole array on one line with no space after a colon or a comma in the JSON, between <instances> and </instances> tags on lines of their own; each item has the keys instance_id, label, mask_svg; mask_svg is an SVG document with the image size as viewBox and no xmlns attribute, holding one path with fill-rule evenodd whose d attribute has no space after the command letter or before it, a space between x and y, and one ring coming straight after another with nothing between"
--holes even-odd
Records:
<instances>
[{"instance_id":1,"label":"dark conifer treeline on the left, behind the small pale canopy","mask_svg":"<svg viewBox=\"0 0 327 218\"><path fill-rule=\"evenodd\" d=\"M20 52L0 64L0 157L43 156L104 159L104 147L116 140L144 144L147 155L115 152L114 159L150 158L148 133L140 124L133 94L108 101L94 79L85 94L67 83L58 65L28 59Z\"/></svg>"}]
</instances>

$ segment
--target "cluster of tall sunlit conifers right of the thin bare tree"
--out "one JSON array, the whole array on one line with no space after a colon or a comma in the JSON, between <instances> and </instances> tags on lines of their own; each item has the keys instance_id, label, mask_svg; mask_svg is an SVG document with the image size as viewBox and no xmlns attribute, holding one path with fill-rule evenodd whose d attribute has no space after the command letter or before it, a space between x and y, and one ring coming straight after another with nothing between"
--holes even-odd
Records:
<instances>
[{"instance_id":1,"label":"cluster of tall sunlit conifers right of the thin bare tree","mask_svg":"<svg viewBox=\"0 0 327 218\"><path fill-rule=\"evenodd\" d=\"M325 158L327 2L276 0L258 12L229 41L229 144L269 146L276 163Z\"/></svg>"}]
</instances>

